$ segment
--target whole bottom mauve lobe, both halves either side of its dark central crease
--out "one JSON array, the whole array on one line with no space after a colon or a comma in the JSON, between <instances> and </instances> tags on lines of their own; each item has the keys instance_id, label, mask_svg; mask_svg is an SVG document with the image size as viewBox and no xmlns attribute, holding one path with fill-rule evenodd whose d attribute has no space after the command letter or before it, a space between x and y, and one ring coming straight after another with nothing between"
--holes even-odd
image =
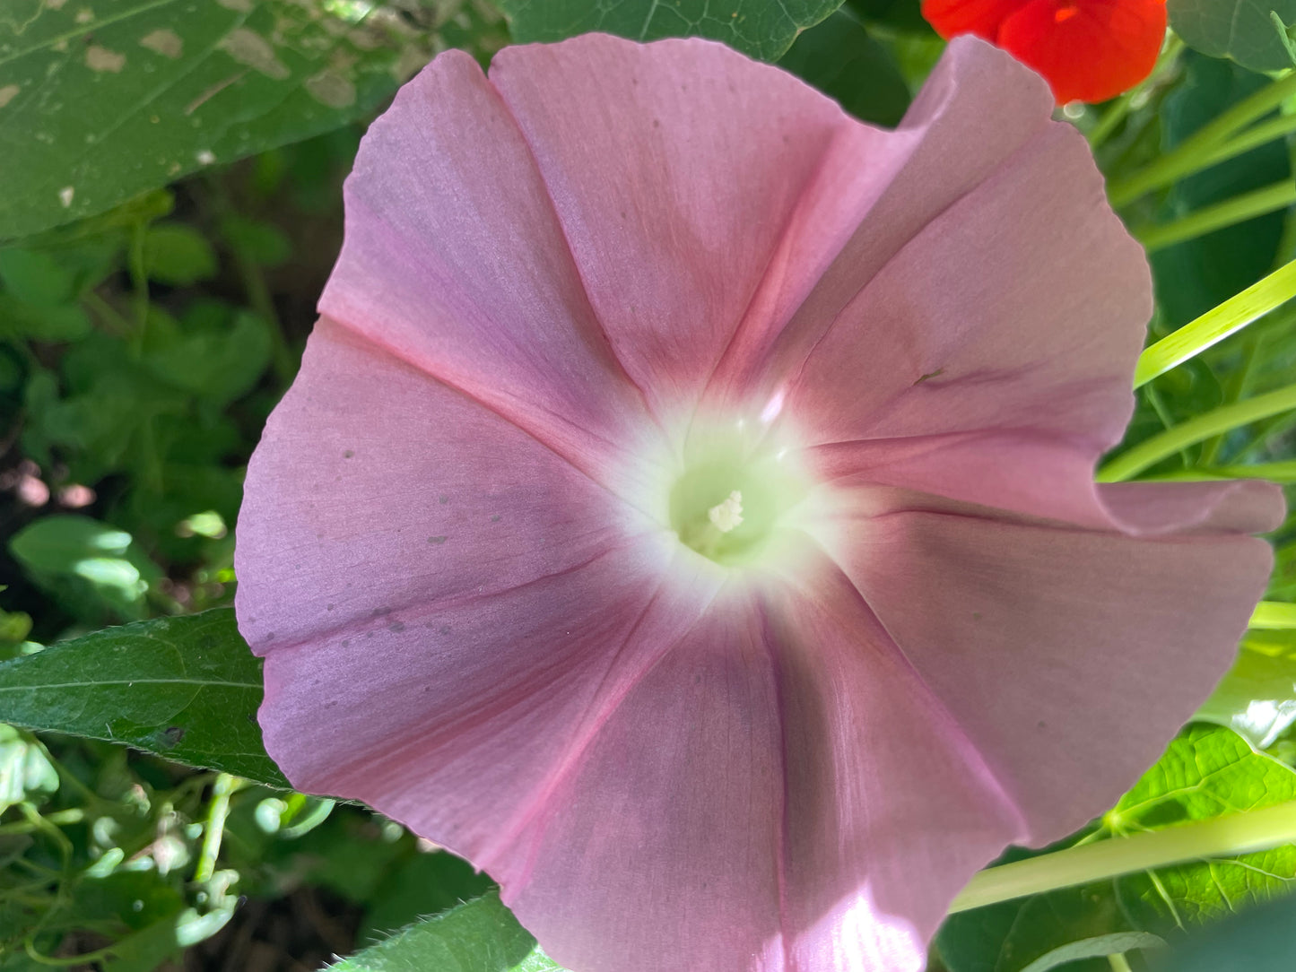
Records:
<instances>
[{"instance_id":1,"label":"whole bottom mauve lobe, both halves either side of its dark central crease","mask_svg":"<svg viewBox=\"0 0 1296 972\"><path fill-rule=\"evenodd\" d=\"M1024 835L858 594L816 573L722 594L551 791L500 876L555 960L916 971L949 901Z\"/></svg>"}]
</instances>

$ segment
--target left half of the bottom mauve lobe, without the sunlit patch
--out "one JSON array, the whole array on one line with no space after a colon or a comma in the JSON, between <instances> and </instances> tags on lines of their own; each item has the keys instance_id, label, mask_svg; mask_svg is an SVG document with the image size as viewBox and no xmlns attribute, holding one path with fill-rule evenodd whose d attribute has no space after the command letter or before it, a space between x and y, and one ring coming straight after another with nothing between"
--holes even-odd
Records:
<instances>
[{"instance_id":1,"label":"left half of the bottom mauve lobe, without the sunlit patch","mask_svg":"<svg viewBox=\"0 0 1296 972\"><path fill-rule=\"evenodd\" d=\"M579 972L780 969L781 762L759 614L726 599L555 780L504 902Z\"/></svg>"}]
</instances>

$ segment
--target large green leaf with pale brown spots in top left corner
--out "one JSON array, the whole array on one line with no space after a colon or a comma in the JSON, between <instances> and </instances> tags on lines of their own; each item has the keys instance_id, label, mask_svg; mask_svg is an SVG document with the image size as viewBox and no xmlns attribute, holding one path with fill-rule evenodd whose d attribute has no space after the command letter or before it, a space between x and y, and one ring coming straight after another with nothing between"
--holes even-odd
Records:
<instances>
[{"instance_id":1,"label":"large green leaf with pale brown spots in top left corner","mask_svg":"<svg viewBox=\"0 0 1296 972\"><path fill-rule=\"evenodd\" d=\"M4 0L0 238L373 110L442 43L399 6Z\"/></svg>"}]
</instances>

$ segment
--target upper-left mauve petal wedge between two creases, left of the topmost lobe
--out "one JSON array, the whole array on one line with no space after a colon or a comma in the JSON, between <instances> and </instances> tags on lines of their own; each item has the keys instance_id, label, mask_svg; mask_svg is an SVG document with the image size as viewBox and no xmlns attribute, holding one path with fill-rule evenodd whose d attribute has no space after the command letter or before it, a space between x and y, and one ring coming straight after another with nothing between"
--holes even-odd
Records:
<instances>
[{"instance_id":1,"label":"upper-left mauve petal wedge between two creases, left of the topmost lobe","mask_svg":"<svg viewBox=\"0 0 1296 972\"><path fill-rule=\"evenodd\" d=\"M468 54L448 51L400 88L345 197L327 316L604 478L622 446L653 437L530 150Z\"/></svg>"}]
</instances>

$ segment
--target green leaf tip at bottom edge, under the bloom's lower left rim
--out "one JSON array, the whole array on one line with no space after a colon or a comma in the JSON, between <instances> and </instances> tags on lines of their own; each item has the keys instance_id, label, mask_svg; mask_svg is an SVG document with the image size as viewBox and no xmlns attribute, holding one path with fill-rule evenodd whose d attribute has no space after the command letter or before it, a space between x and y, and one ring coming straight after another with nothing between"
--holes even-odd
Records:
<instances>
[{"instance_id":1,"label":"green leaf tip at bottom edge, under the bloom's lower left rim","mask_svg":"<svg viewBox=\"0 0 1296 972\"><path fill-rule=\"evenodd\" d=\"M330 972L562 972L490 892L410 925Z\"/></svg>"}]
</instances>

